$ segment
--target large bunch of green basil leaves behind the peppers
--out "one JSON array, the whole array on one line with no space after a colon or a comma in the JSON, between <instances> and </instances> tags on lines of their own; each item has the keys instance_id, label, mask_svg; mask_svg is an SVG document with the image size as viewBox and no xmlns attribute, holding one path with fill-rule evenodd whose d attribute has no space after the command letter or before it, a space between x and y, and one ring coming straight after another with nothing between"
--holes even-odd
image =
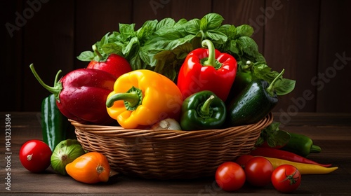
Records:
<instances>
[{"instance_id":1,"label":"large bunch of green basil leaves behind the peppers","mask_svg":"<svg viewBox=\"0 0 351 196\"><path fill-rule=\"evenodd\" d=\"M208 13L201 19L147 20L137 30L135 24L119 24L119 31L105 34L95 45L103 58L112 53L121 55L133 70L150 69L176 80L187 53L201 48L201 41L209 39L218 50L237 59L238 71L250 61L254 63L249 70L253 78L271 82L279 73L267 66L265 57L258 51L257 43L251 38L253 27L235 27L223 24L223 21L218 13ZM81 52L77 58L81 61L102 60L91 51ZM294 87L294 80L282 78L274 89L282 95L291 92Z\"/></svg>"}]
</instances>

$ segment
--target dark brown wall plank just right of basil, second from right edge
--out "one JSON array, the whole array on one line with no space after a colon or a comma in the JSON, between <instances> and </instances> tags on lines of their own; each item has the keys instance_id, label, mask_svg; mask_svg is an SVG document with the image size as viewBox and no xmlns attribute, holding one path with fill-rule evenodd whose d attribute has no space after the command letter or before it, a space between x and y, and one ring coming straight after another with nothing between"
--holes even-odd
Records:
<instances>
[{"instance_id":1,"label":"dark brown wall plank just right of basil, second from right edge","mask_svg":"<svg viewBox=\"0 0 351 196\"><path fill-rule=\"evenodd\" d=\"M319 0L269 0L266 10L264 55L267 64L274 71L285 69L284 78L296 80L295 90L280 97L274 111L291 115L315 111L316 87L310 80L317 71Z\"/></svg>"}]
</instances>

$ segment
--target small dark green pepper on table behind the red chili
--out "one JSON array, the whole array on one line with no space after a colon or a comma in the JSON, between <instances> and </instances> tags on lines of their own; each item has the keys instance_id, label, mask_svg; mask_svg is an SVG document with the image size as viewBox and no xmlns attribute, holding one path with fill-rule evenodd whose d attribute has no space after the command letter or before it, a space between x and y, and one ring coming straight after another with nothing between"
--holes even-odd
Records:
<instances>
[{"instance_id":1,"label":"small dark green pepper on table behind the red chili","mask_svg":"<svg viewBox=\"0 0 351 196\"><path fill-rule=\"evenodd\" d=\"M289 151L297 155L306 157L310 153L320 153L322 151L321 147L313 144L312 139L303 134L291 133L291 138L288 143L281 148L284 151Z\"/></svg>"}]
</instances>

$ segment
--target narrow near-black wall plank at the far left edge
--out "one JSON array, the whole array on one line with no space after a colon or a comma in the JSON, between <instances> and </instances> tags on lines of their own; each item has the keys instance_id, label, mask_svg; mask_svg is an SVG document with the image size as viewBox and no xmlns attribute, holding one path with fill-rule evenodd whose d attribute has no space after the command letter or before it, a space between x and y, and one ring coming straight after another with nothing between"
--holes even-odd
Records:
<instances>
[{"instance_id":1,"label":"narrow near-black wall plank at the far left edge","mask_svg":"<svg viewBox=\"0 0 351 196\"><path fill-rule=\"evenodd\" d=\"M22 15L23 1L1 1L1 31L2 47L0 48L1 78L0 87L4 96L0 111L22 111L22 31L24 22L18 15Z\"/></svg>"}]
</instances>

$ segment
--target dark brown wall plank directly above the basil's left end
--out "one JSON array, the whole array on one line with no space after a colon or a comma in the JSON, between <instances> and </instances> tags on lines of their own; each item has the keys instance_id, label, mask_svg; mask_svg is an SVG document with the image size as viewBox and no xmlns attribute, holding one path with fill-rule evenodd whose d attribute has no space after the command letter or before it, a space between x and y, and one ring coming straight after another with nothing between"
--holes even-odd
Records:
<instances>
[{"instance_id":1,"label":"dark brown wall plank directly above the basil's left end","mask_svg":"<svg viewBox=\"0 0 351 196\"><path fill-rule=\"evenodd\" d=\"M74 24L74 68L82 68L88 62L81 62L77 56L100 41L105 34L119 31L119 23L132 22L132 0L126 1L83 1L77 0Z\"/></svg>"}]
</instances>

